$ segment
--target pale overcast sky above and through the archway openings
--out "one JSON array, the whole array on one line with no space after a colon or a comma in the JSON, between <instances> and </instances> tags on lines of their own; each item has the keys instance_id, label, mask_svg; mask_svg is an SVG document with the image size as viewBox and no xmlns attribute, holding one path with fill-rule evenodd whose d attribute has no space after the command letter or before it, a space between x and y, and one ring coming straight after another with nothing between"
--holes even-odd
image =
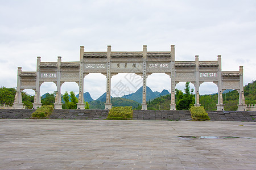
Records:
<instances>
[{"instance_id":1,"label":"pale overcast sky above and through the archway openings","mask_svg":"<svg viewBox=\"0 0 256 170\"><path fill-rule=\"evenodd\" d=\"M57 56L79 61L80 45L85 51L106 51L107 45L112 51L142 51L143 45L148 51L170 51L174 44L176 61L193 61L196 55L199 60L217 60L221 54L222 71L238 71L242 65L243 84L256 79L255 0L0 0L0 20L0 86L16 87L17 67L35 71L37 56L42 61L57 61ZM126 78L113 76L113 90L120 80L130 92L140 87L129 85ZM170 90L170 77L152 74L147 86L152 91ZM106 91L105 76L86 75L84 87L97 99ZM176 87L183 89L184 83ZM72 90L79 91L74 82L61 87L61 93ZM42 84L41 95L53 91L55 84ZM200 94L213 92L215 84L201 84Z\"/></svg>"}]
</instances>

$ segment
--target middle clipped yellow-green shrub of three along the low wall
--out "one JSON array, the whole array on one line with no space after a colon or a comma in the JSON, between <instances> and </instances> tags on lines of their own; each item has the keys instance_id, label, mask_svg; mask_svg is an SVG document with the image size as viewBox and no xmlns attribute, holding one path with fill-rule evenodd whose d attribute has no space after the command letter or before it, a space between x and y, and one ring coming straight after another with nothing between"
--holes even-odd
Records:
<instances>
[{"instance_id":1,"label":"middle clipped yellow-green shrub of three along the low wall","mask_svg":"<svg viewBox=\"0 0 256 170\"><path fill-rule=\"evenodd\" d=\"M131 120L133 118L133 107L112 107L107 117L108 120Z\"/></svg>"}]
</instances>

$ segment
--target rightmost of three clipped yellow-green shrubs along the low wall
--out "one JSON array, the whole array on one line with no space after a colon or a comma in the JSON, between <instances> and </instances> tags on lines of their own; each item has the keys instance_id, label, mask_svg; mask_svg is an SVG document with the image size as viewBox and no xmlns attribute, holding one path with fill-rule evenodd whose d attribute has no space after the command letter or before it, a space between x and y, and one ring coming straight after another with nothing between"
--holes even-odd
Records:
<instances>
[{"instance_id":1,"label":"rightmost of three clipped yellow-green shrubs along the low wall","mask_svg":"<svg viewBox=\"0 0 256 170\"><path fill-rule=\"evenodd\" d=\"M191 107L189 109L192 120L205 121L210 120L208 113L205 112L204 107Z\"/></svg>"}]
</instances>

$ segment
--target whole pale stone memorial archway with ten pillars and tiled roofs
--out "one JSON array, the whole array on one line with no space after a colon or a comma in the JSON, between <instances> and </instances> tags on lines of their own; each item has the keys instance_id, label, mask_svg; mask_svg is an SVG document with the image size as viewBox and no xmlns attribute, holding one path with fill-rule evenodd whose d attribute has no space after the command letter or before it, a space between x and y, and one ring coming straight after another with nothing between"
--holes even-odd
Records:
<instances>
[{"instance_id":1,"label":"whole pale stone memorial archway with ten pillars and tiled roofs","mask_svg":"<svg viewBox=\"0 0 256 170\"><path fill-rule=\"evenodd\" d=\"M106 103L105 109L111 109L110 102L111 78L118 73L135 73L142 76L142 109L147 109L146 86L147 76L152 73L166 73L171 78L171 103L170 109L175 110L175 86L179 82L191 82L195 85L196 101L199 103L199 86L203 82L213 82L218 86L217 110L224 110L222 92L226 89L235 89L240 93L238 110L246 108L243 96L243 67L239 71L221 71L221 56L217 61L175 61L174 45L168 52L147 52L143 45L142 52L112 52L108 45L107 52L84 52L80 46L80 61L62 62L58 57L57 62L42 62L37 59L36 71L22 71L18 67L17 92L14 108L22 108L21 92L24 89L35 90L34 108L40 107L40 86L43 82L54 82L57 86L55 109L61 109L60 88L64 82L79 84L79 103L77 109L84 109L84 77L89 73L101 73L106 76Z\"/></svg>"}]
</instances>

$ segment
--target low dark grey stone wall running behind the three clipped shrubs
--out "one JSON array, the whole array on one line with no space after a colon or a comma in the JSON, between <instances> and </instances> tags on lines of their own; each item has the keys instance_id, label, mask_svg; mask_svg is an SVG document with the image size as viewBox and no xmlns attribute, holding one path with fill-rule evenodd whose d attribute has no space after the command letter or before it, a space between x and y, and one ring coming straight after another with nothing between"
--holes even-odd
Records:
<instances>
[{"instance_id":1,"label":"low dark grey stone wall running behind the three clipped shrubs","mask_svg":"<svg viewBox=\"0 0 256 170\"><path fill-rule=\"evenodd\" d=\"M0 118L30 118L34 109L0 109ZM108 110L54 110L50 119L104 120ZM256 111L207 111L211 121L256 122ZM133 120L191 120L189 111L133 111Z\"/></svg>"}]
</instances>

